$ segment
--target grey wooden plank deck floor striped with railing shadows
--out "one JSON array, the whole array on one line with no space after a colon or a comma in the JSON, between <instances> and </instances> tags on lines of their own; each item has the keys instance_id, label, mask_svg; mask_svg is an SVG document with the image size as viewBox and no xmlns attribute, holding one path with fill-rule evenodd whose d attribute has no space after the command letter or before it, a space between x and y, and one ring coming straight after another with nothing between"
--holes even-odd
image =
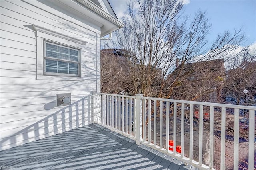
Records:
<instances>
[{"instance_id":1,"label":"grey wooden plank deck floor striped with railing shadows","mask_svg":"<svg viewBox=\"0 0 256 170\"><path fill-rule=\"evenodd\" d=\"M116 132L91 124L0 152L0 166L13 169L171 169L181 161ZM194 169L194 168L192 168Z\"/></svg>"}]
</instances>

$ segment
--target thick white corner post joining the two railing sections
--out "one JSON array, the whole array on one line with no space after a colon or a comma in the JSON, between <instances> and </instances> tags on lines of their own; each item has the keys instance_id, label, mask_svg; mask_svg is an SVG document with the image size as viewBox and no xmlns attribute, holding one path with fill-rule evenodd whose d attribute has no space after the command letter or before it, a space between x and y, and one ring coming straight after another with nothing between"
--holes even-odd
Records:
<instances>
[{"instance_id":1,"label":"thick white corner post joining the two railing sections","mask_svg":"<svg viewBox=\"0 0 256 170\"><path fill-rule=\"evenodd\" d=\"M140 141L142 140L142 96L143 94L135 94L136 96L136 144L140 145Z\"/></svg>"}]
</instances>

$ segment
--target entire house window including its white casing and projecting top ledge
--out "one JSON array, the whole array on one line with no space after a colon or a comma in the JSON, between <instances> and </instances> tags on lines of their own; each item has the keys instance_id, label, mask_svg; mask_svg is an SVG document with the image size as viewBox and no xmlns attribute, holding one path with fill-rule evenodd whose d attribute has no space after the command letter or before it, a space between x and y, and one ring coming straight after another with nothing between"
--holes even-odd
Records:
<instances>
[{"instance_id":1,"label":"entire house window including its white casing and projecting top ledge","mask_svg":"<svg viewBox=\"0 0 256 170\"><path fill-rule=\"evenodd\" d=\"M36 78L84 81L81 63L87 42L36 25L33 28L36 30Z\"/></svg>"}]
</instances>

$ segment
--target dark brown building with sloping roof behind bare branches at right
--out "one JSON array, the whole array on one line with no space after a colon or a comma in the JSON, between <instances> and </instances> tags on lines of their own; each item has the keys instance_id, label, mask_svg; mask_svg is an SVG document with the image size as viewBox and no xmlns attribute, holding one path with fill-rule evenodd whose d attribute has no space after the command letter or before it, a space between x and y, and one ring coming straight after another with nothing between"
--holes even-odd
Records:
<instances>
[{"instance_id":1,"label":"dark brown building with sloping roof behind bare branches at right","mask_svg":"<svg viewBox=\"0 0 256 170\"><path fill-rule=\"evenodd\" d=\"M186 98L201 95L197 100L218 102L225 79L224 59L186 64L176 60L176 69L167 79L173 78L179 79L177 90L182 91Z\"/></svg>"}]
</instances>

